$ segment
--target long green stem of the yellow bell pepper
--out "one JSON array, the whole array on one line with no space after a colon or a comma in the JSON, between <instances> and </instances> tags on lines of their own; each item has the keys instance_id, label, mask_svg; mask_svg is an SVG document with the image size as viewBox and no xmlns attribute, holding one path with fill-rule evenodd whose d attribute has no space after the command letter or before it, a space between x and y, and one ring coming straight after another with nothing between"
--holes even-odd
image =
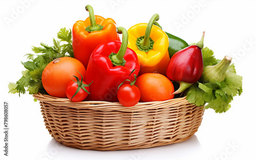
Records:
<instances>
[{"instance_id":1,"label":"long green stem of the yellow bell pepper","mask_svg":"<svg viewBox=\"0 0 256 160\"><path fill-rule=\"evenodd\" d=\"M139 50L148 52L153 49L154 41L150 38L150 33L155 21L159 20L159 15L154 14L146 26L145 36L137 38L136 45ZM157 23L156 23L157 24Z\"/></svg>"}]
</instances>

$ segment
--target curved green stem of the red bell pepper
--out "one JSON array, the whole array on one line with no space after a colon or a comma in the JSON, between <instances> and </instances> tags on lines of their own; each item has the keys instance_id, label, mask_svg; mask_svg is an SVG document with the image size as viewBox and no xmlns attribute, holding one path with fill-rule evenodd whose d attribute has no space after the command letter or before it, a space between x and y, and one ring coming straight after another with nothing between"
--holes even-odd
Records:
<instances>
[{"instance_id":1,"label":"curved green stem of the red bell pepper","mask_svg":"<svg viewBox=\"0 0 256 160\"><path fill-rule=\"evenodd\" d=\"M112 53L110 55L110 60L115 66L124 66L126 61L123 59L123 56L126 52L128 45L128 32L122 26L118 26L118 28L116 28L116 32L123 35L122 44L117 54Z\"/></svg>"}]
</instances>

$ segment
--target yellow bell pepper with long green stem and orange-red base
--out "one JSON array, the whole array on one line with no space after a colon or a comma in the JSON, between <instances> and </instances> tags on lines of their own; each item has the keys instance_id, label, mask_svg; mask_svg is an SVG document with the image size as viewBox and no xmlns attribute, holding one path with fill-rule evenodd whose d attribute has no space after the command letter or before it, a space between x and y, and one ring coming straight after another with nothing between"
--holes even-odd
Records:
<instances>
[{"instance_id":1,"label":"yellow bell pepper with long green stem and orange-red base","mask_svg":"<svg viewBox=\"0 0 256 160\"><path fill-rule=\"evenodd\" d=\"M153 25L158 19L159 15L154 14L148 24L139 23L128 30L128 47L138 56L141 66L139 74L159 72L166 75L166 67L170 60L169 39L163 30Z\"/></svg>"}]
</instances>

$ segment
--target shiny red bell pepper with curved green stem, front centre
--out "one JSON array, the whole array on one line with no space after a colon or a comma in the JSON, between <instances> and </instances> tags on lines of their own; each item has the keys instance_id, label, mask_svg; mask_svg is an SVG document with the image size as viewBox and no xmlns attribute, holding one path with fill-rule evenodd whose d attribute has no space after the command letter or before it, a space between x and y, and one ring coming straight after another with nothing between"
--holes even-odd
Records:
<instances>
[{"instance_id":1,"label":"shiny red bell pepper with curved green stem, front centre","mask_svg":"<svg viewBox=\"0 0 256 160\"><path fill-rule=\"evenodd\" d=\"M93 82L87 100L118 101L117 88L125 79L138 75L140 64L134 50L127 48L128 33L117 28L117 33L123 35L122 43L113 41L101 43L92 52L88 63L86 82ZM117 54L116 54L117 53ZM134 71L134 74L130 73Z\"/></svg>"}]
</instances>

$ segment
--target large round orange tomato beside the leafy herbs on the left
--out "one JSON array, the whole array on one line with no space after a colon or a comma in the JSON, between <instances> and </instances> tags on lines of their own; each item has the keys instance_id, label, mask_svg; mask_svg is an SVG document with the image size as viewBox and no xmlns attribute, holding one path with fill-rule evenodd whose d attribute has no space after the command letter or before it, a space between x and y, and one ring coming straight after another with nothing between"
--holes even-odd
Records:
<instances>
[{"instance_id":1,"label":"large round orange tomato beside the leafy herbs on the left","mask_svg":"<svg viewBox=\"0 0 256 160\"><path fill-rule=\"evenodd\" d=\"M77 59L61 57L50 62L42 72L42 86L51 96L67 98L66 87L76 79L73 75L86 78L86 68Z\"/></svg>"}]
</instances>

